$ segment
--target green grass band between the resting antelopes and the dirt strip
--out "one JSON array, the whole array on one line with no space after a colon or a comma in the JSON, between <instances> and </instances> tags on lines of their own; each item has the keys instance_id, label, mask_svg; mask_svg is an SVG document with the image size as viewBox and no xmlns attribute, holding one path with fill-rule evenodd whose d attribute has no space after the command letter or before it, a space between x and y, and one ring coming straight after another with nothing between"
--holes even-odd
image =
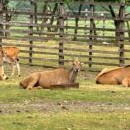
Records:
<instances>
[{"instance_id":1,"label":"green grass band between the resting antelopes and the dirt strip","mask_svg":"<svg viewBox=\"0 0 130 130\"><path fill-rule=\"evenodd\" d=\"M16 80L16 79L15 79ZM96 85L94 81L80 81L79 89L34 89L25 90L19 88L19 79L8 80L0 83L0 102L31 102L37 100L61 101L61 100L80 100L85 102L111 102L114 104L122 103L130 105L130 90L122 86ZM13 83L12 83L13 82ZM114 92L113 92L114 91Z\"/></svg>"}]
</instances>

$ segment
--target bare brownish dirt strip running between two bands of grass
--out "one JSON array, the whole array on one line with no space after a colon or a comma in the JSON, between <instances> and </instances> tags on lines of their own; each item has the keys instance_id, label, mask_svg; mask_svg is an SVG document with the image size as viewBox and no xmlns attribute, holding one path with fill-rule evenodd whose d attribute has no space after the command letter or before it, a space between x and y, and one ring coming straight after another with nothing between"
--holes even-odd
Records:
<instances>
[{"instance_id":1,"label":"bare brownish dirt strip running between two bands of grass","mask_svg":"<svg viewBox=\"0 0 130 130\"><path fill-rule=\"evenodd\" d=\"M62 101L62 102L37 102L30 103L25 102L22 104L0 104L1 114L12 114L22 112L43 112L43 113L55 113L55 112L116 112L116 111L130 111L130 106L123 104L112 103L88 103L81 101Z\"/></svg>"}]
</instances>

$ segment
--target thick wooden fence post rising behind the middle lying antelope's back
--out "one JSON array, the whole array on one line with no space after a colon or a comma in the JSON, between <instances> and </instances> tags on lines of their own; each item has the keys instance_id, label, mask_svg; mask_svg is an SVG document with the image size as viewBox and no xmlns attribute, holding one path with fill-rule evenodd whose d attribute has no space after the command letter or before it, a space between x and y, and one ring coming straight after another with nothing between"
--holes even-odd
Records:
<instances>
[{"instance_id":1,"label":"thick wooden fence post rising behind the middle lying antelope's back","mask_svg":"<svg viewBox=\"0 0 130 130\"><path fill-rule=\"evenodd\" d=\"M64 33L64 3L61 1L59 3L59 66L64 65L64 41L63 41L63 33Z\"/></svg>"}]
</instances>

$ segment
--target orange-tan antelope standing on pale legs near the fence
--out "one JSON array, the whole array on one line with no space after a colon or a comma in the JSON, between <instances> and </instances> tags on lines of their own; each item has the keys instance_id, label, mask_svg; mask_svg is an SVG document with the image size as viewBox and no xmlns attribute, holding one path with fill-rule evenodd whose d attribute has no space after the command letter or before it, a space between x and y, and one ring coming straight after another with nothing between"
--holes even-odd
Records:
<instances>
[{"instance_id":1,"label":"orange-tan antelope standing on pale legs near the fence","mask_svg":"<svg viewBox=\"0 0 130 130\"><path fill-rule=\"evenodd\" d=\"M4 46L1 47L3 51L3 60L12 65L11 76L14 76L17 68L18 76L20 76L20 65L19 65L19 48L16 46Z\"/></svg>"}]
</instances>

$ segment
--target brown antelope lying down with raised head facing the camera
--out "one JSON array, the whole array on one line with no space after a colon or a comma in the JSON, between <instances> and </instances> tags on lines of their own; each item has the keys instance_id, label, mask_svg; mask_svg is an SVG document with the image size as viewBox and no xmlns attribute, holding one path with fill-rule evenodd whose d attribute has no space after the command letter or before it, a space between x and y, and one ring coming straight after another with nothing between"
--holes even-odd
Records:
<instances>
[{"instance_id":1,"label":"brown antelope lying down with raised head facing the camera","mask_svg":"<svg viewBox=\"0 0 130 130\"><path fill-rule=\"evenodd\" d=\"M71 64L72 68L70 70L58 68L32 73L20 82L20 86L25 89L32 89L38 86L52 89L55 85L74 83L81 68L81 63L79 60L75 60Z\"/></svg>"}]
</instances>

